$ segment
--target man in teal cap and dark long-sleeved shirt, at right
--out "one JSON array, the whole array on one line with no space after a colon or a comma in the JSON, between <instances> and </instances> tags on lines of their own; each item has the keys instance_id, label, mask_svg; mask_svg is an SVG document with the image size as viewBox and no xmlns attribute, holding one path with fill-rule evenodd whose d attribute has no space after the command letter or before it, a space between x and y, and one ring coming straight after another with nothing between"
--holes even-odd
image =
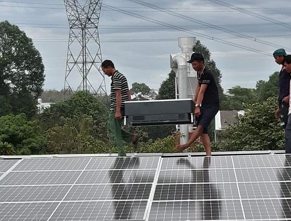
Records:
<instances>
[{"instance_id":1,"label":"man in teal cap and dark long-sleeved shirt, at right","mask_svg":"<svg viewBox=\"0 0 291 221\"><path fill-rule=\"evenodd\" d=\"M281 126L286 128L288 121L288 109L289 109L289 90L290 90L290 73L284 68L284 58L286 56L284 49L278 49L274 51L273 56L275 62L282 65L279 72L279 96L278 96L278 108L275 112L275 117L280 118Z\"/></svg>"}]
</instances>

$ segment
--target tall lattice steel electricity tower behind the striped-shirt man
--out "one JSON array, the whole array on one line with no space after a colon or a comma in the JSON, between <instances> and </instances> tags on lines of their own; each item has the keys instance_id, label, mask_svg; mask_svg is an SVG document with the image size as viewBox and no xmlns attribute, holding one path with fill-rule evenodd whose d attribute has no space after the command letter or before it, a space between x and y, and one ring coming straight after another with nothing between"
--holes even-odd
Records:
<instances>
[{"instance_id":1,"label":"tall lattice steel electricity tower behind the striped-shirt man","mask_svg":"<svg viewBox=\"0 0 291 221\"><path fill-rule=\"evenodd\" d=\"M78 0L64 0L64 4L70 28L64 95L77 91L106 95L98 33L102 0L87 0L82 6Z\"/></svg>"}]
</instances>

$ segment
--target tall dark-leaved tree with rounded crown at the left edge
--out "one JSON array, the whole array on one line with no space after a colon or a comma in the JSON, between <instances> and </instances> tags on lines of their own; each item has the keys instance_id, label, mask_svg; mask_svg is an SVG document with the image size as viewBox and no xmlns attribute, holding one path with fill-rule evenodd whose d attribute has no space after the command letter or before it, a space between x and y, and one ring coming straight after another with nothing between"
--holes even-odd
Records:
<instances>
[{"instance_id":1,"label":"tall dark-leaved tree with rounded crown at the left edge","mask_svg":"<svg viewBox=\"0 0 291 221\"><path fill-rule=\"evenodd\" d=\"M25 32L8 21L0 22L0 96L14 114L35 113L36 99L43 91L44 69L40 52Z\"/></svg>"}]
</instances>

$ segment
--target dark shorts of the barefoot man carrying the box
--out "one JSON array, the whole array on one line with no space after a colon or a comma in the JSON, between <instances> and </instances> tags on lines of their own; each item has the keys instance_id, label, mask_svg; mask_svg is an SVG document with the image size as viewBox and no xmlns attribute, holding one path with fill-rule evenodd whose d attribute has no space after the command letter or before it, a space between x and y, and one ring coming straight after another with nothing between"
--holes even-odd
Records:
<instances>
[{"instance_id":1,"label":"dark shorts of the barefoot man carrying the box","mask_svg":"<svg viewBox=\"0 0 291 221\"><path fill-rule=\"evenodd\" d=\"M219 111L219 104L203 104L200 107L200 116L196 118L197 125L203 126L203 132L207 134L208 127Z\"/></svg>"}]
</instances>

